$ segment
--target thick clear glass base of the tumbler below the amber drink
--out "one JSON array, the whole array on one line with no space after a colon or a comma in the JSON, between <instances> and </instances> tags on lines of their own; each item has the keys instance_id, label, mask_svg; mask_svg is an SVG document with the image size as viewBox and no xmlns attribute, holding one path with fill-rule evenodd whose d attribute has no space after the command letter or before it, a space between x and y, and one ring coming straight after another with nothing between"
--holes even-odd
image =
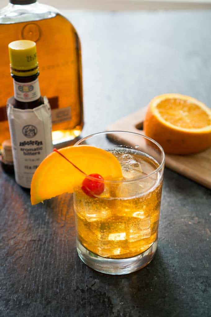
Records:
<instances>
[{"instance_id":1,"label":"thick clear glass base of the tumbler below the amber drink","mask_svg":"<svg viewBox=\"0 0 211 317\"><path fill-rule=\"evenodd\" d=\"M151 262L158 246L158 239L140 255L121 260L97 256L84 248L78 239L76 240L76 246L80 259L90 268L102 273L120 275L138 271Z\"/></svg>"}]
</instances>

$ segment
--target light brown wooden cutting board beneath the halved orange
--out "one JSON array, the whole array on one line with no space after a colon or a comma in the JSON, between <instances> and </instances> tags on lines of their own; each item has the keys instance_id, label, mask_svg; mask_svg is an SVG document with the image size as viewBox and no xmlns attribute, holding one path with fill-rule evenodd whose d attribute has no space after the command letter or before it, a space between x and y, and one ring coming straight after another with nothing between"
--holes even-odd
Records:
<instances>
[{"instance_id":1,"label":"light brown wooden cutting board beneath the halved orange","mask_svg":"<svg viewBox=\"0 0 211 317\"><path fill-rule=\"evenodd\" d=\"M144 134L142 127L146 114L146 107L124 117L108 126L107 130L122 130ZM124 142L131 143L127 137ZM211 148L192 155L165 154L165 166L182 174L195 182L211 189Z\"/></svg>"}]
</instances>

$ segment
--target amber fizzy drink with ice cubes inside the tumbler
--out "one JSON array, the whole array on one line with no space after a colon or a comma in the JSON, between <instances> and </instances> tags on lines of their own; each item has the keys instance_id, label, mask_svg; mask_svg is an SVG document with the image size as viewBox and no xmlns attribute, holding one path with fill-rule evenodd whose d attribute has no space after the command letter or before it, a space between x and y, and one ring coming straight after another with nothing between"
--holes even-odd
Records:
<instances>
[{"instance_id":1,"label":"amber fizzy drink with ice cubes inside the tumbler","mask_svg":"<svg viewBox=\"0 0 211 317\"><path fill-rule=\"evenodd\" d=\"M78 239L91 252L108 258L136 256L157 239L162 182L158 163L139 151L112 150L123 181L106 183L99 197L74 193Z\"/></svg>"}]
</instances>

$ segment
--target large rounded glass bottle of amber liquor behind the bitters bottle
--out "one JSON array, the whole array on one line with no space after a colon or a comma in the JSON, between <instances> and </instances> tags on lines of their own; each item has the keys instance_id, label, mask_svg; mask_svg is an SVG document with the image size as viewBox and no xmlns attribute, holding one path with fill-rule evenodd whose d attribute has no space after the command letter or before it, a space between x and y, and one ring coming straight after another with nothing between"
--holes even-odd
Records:
<instances>
[{"instance_id":1,"label":"large rounded glass bottle of amber liquor behind the bitters bottle","mask_svg":"<svg viewBox=\"0 0 211 317\"><path fill-rule=\"evenodd\" d=\"M12 95L8 44L36 42L40 89L52 109L53 144L75 139L82 131L83 96L81 46L72 24L53 7L36 0L10 0L0 11L0 149L9 139L6 100Z\"/></svg>"}]
</instances>

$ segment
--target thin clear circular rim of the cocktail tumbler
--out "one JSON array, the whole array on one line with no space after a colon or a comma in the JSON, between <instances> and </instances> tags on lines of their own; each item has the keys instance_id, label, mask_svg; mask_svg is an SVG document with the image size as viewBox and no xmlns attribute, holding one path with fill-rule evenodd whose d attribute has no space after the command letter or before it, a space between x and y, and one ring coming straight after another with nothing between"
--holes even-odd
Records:
<instances>
[{"instance_id":1,"label":"thin clear circular rim of the cocktail tumbler","mask_svg":"<svg viewBox=\"0 0 211 317\"><path fill-rule=\"evenodd\" d=\"M102 131L102 132L97 132L97 133L90 134L90 135L88 135L88 136L86 136L86 137L84 137L84 138L78 140L73 146L80 145L81 142L84 142L85 140L90 139L91 137L94 137L94 136L96 136L96 135L109 134L109 133L127 133L127 134L133 134L133 135L136 135L136 136L138 136L138 137L142 137L142 138L144 138L144 139L147 139L147 140L151 141L151 142L154 143L156 146L158 146L158 148L160 149L161 155L163 156L163 157L162 157L162 162L160 163L160 165L159 165L154 171L152 171L151 173L149 173L149 174L147 174L147 175L145 175L145 176L142 176L142 177L135 177L135 178L133 178L133 179L127 179L127 180L125 180L125 179L124 179L124 180L106 180L106 179L104 179L104 180L101 181L101 180L97 179L98 182L102 182L102 183L115 183L115 184L118 184L118 183L130 183L130 182L134 182L134 181L137 181L137 180L140 180L140 179L146 179L146 178L148 178L148 177L151 177L153 174L159 172L159 171L162 169L162 167L163 167L163 165L164 165L164 162L165 162L165 153L164 153L164 150L163 150L162 146L161 146L158 142L156 142L155 140L153 140L153 139L151 139L151 138L149 138L149 137L147 137L146 135L141 134L141 133L130 132L130 131L123 131L123 130L107 130L107 131ZM106 151L106 150L105 150L105 151ZM159 164L159 163L158 163L158 164ZM86 178L96 180L96 178L91 177L91 176L89 176L89 175L86 175Z\"/></svg>"}]
</instances>

